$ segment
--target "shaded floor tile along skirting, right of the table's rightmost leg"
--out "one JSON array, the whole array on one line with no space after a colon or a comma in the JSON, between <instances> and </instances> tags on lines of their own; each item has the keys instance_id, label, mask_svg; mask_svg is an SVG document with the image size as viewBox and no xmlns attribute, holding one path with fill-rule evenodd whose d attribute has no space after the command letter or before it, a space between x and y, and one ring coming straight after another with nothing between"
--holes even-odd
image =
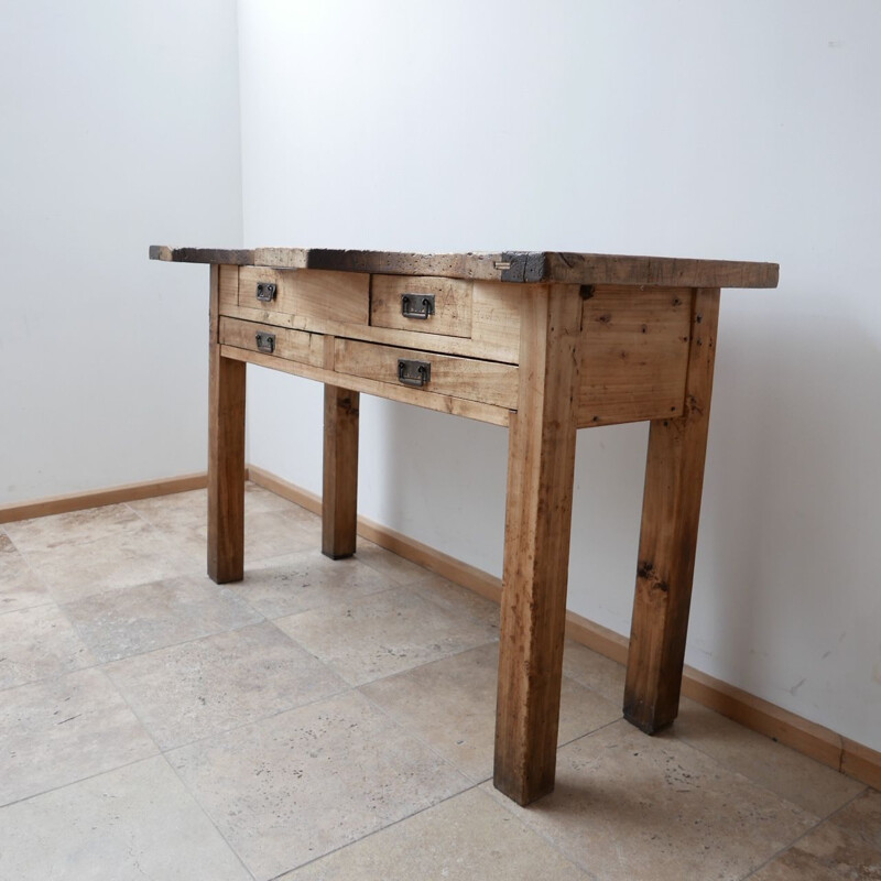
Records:
<instances>
[{"instance_id":1,"label":"shaded floor tile along skirting, right of the table's rightmost leg","mask_svg":"<svg viewBox=\"0 0 881 881\"><path fill-rule=\"evenodd\" d=\"M683 698L674 737L793 804L825 817L864 787L834 769Z\"/></svg>"}]
</instances>

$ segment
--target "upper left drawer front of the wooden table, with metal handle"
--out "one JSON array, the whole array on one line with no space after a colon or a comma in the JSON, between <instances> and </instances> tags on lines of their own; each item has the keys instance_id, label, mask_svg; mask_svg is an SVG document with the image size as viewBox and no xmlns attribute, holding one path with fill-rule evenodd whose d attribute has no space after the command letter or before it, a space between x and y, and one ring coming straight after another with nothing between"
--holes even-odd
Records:
<instances>
[{"instance_id":1,"label":"upper left drawer front of the wooden table, with metal handle","mask_svg":"<svg viewBox=\"0 0 881 881\"><path fill-rule=\"evenodd\" d=\"M270 285L274 285L271 289ZM293 315L298 325L320 330L327 322L370 322L370 276L363 272L239 268L239 306Z\"/></svg>"}]
</instances>

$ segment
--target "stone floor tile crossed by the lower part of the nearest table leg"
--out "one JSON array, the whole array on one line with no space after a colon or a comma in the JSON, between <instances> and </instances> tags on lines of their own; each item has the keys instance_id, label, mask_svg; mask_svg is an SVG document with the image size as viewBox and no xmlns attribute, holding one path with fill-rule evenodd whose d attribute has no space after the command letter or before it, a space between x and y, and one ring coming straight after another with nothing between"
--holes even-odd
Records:
<instances>
[{"instance_id":1,"label":"stone floor tile crossed by the lower part of the nearest table leg","mask_svg":"<svg viewBox=\"0 0 881 881\"><path fill-rule=\"evenodd\" d=\"M499 646L491 643L360 690L470 780L481 781L492 776L498 670ZM561 743L621 717L618 707L568 677L561 705Z\"/></svg>"}]
</instances>

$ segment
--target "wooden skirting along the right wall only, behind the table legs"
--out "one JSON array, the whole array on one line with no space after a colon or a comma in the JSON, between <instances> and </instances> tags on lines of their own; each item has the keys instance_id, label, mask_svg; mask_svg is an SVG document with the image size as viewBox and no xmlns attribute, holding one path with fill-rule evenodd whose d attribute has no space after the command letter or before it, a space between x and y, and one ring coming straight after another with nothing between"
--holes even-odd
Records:
<instances>
[{"instance_id":1,"label":"wooden skirting along the right wall only, behind the table legs","mask_svg":"<svg viewBox=\"0 0 881 881\"><path fill-rule=\"evenodd\" d=\"M250 479L259 486L316 514L322 512L322 499L314 492L296 487L262 468L251 466L248 472ZM501 601L502 581L494 575L365 516L358 518L358 535L487 599ZM566 612L566 637L619 664L627 662L627 637L574 611ZM881 788L881 753L877 750L848 740L822 725L687 665L684 668L682 693L744 728L771 737L836 771Z\"/></svg>"}]
</instances>

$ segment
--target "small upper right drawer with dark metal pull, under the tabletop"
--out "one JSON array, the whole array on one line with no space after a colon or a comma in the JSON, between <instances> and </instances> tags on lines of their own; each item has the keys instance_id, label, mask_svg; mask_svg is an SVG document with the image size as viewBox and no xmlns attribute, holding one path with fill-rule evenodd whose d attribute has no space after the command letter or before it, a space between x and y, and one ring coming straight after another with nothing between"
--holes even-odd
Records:
<instances>
[{"instance_id":1,"label":"small upper right drawer with dark metal pull, under the tabletop","mask_svg":"<svg viewBox=\"0 0 881 881\"><path fill-rule=\"evenodd\" d=\"M431 275L373 275L370 324L448 337L471 336L474 283Z\"/></svg>"}]
</instances>

